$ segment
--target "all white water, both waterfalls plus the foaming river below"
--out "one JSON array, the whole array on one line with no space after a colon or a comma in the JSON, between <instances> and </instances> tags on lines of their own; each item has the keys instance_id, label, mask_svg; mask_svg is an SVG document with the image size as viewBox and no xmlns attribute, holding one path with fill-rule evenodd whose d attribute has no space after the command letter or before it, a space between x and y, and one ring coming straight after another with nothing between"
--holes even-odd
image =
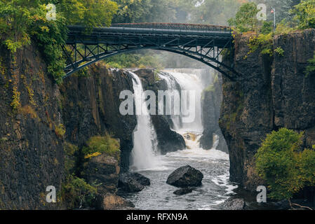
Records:
<instances>
[{"instance_id":1,"label":"all white water, both waterfalls plus the foaming river below","mask_svg":"<svg viewBox=\"0 0 315 224\"><path fill-rule=\"evenodd\" d=\"M173 129L182 134L187 149L158 155L156 146L152 144L156 134L152 127L149 116L137 116L138 125L134 132L133 149L133 171L147 176L151 186L147 186L139 193L124 193L122 196L135 204L137 209L215 209L217 204L224 202L234 194L237 186L229 182L229 155L217 151L216 147L220 141L215 137L213 148L203 150L199 147L203 125L201 123L201 91L206 87L196 71L175 71L167 70L160 73L160 78L166 80L168 89L177 90L178 85L182 90L196 90L200 96L196 98L196 119L194 123L181 123L180 116L172 116ZM133 74L135 93L143 92L140 78ZM141 99L136 103L143 104ZM152 131L153 130L153 131ZM192 193L177 196L173 191L174 186L166 183L168 175L175 169L190 165L203 173L202 186L193 188Z\"/></svg>"}]
</instances>

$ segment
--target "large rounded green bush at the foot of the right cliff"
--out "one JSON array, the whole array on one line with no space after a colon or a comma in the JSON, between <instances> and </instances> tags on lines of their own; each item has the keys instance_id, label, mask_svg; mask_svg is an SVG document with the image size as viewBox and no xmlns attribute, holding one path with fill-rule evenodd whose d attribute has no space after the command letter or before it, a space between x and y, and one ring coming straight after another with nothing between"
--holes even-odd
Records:
<instances>
[{"instance_id":1,"label":"large rounded green bush at the foot of the right cliff","mask_svg":"<svg viewBox=\"0 0 315 224\"><path fill-rule=\"evenodd\" d=\"M255 155L257 173L276 200L290 200L304 186L315 186L315 151L300 151L302 135L286 128L267 134Z\"/></svg>"}]
</instances>

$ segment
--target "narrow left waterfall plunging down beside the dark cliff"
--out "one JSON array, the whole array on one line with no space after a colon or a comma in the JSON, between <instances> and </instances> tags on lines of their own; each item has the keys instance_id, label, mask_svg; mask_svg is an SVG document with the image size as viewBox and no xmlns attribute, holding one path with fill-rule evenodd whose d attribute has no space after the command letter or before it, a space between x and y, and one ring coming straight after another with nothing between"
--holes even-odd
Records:
<instances>
[{"instance_id":1,"label":"narrow left waterfall plunging down beside the dark cliff","mask_svg":"<svg viewBox=\"0 0 315 224\"><path fill-rule=\"evenodd\" d=\"M131 152L131 167L136 170L155 169L159 162L155 156L157 152L156 132L149 116L149 111L143 99L143 87L140 78L129 71L133 77L135 94L135 114L137 126L133 132L133 151Z\"/></svg>"}]
</instances>

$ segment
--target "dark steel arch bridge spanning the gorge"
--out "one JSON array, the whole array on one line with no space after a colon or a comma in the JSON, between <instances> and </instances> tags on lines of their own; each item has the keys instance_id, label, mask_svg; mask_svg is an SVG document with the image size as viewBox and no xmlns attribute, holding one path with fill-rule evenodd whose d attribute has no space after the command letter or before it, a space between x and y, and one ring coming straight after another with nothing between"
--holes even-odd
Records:
<instances>
[{"instance_id":1,"label":"dark steel arch bridge spanning the gorge","mask_svg":"<svg viewBox=\"0 0 315 224\"><path fill-rule=\"evenodd\" d=\"M185 55L220 71L234 80L239 73L220 62L222 50L233 47L232 30L213 25L134 23L94 28L86 34L80 26L68 27L66 45L62 45L66 76L85 66L123 52L152 49ZM231 51L232 52L232 51Z\"/></svg>"}]
</instances>

